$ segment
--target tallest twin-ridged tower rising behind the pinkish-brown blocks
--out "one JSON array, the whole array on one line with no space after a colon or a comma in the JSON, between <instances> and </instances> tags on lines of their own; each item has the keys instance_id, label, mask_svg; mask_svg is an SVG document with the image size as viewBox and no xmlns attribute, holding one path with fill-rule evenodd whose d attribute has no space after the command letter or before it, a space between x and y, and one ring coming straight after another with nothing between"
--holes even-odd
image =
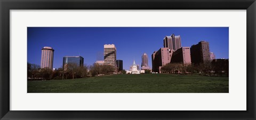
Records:
<instances>
[{"instance_id":1,"label":"tallest twin-ridged tower rising behind the pinkish-brown blocks","mask_svg":"<svg viewBox=\"0 0 256 120\"><path fill-rule=\"evenodd\" d=\"M175 36L172 34L171 36L165 36L164 38L164 47L173 49L174 51L181 48L181 38L180 36Z\"/></svg>"}]
</instances>

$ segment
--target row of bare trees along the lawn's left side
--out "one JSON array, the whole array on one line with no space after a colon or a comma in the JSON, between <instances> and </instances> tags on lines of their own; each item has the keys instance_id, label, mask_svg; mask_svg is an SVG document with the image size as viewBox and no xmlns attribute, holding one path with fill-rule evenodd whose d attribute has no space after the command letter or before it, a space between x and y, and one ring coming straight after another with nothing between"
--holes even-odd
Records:
<instances>
[{"instance_id":1,"label":"row of bare trees along the lawn's left side","mask_svg":"<svg viewBox=\"0 0 256 120\"><path fill-rule=\"evenodd\" d=\"M67 66L60 67L57 70L51 70L50 68L40 68L39 65L27 63L28 80L78 79L113 74L114 72L114 67L109 65L76 66L74 64L67 64Z\"/></svg>"}]
</instances>

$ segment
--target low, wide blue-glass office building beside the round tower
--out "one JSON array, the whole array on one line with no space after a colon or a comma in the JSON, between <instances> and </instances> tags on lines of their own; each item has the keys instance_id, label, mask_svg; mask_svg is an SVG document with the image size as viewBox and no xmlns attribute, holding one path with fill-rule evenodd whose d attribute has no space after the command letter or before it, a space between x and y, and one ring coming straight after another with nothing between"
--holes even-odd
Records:
<instances>
[{"instance_id":1,"label":"low, wide blue-glass office building beside the round tower","mask_svg":"<svg viewBox=\"0 0 256 120\"><path fill-rule=\"evenodd\" d=\"M68 70L68 68L84 66L84 58L82 56L65 56L63 57L62 65L64 70Z\"/></svg>"}]
</instances>

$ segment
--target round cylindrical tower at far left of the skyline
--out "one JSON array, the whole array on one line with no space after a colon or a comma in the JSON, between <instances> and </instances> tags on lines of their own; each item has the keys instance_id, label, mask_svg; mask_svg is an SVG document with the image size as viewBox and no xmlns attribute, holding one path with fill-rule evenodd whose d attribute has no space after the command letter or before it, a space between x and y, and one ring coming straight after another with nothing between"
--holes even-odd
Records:
<instances>
[{"instance_id":1,"label":"round cylindrical tower at far left of the skyline","mask_svg":"<svg viewBox=\"0 0 256 120\"><path fill-rule=\"evenodd\" d=\"M41 55L41 68L49 68L52 70L53 66L53 52L52 47L43 47Z\"/></svg>"}]
</instances>

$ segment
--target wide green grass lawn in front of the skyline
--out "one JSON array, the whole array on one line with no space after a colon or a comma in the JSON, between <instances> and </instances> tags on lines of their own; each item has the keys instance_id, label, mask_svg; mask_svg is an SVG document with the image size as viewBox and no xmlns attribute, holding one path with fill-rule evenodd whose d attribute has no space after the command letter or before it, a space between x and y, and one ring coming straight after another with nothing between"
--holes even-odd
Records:
<instances>
[{"instance_id":1,"label":"wide green grass lawn in front of the skyline","mask_svg":"<svg viewBox=\"0 0 256 120\"><path fill-rule=\"evenodd\" d=\"M117 74L74 80L28 81L28 93L228 93L228 77Z\"/></svg>"}]
</instances>

